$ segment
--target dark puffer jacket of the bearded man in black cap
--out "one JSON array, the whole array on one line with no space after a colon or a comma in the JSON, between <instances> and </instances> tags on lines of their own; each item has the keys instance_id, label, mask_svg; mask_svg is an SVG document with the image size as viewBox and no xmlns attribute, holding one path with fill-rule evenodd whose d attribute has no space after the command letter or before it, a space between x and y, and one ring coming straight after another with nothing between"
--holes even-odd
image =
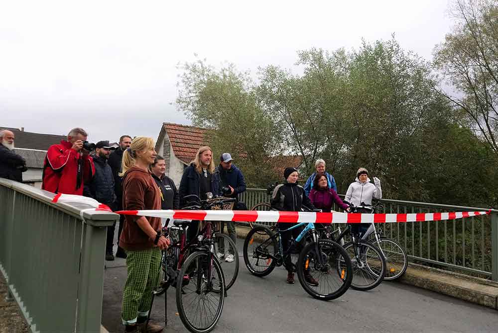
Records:
<instances>
[{"instance_id":1,"label":"dark puffer jacket of the bearded man in black cap","mask_svg":"<svg viewBox=\"0 0 498 333\"><path fill-rule=\"evenodd\" d=\"M91 181L85 184L83 195L111 206L116 202L113 170L106 159L93 156L93 161L95 164L95 175Z\"/></svg>"}]
</instances>

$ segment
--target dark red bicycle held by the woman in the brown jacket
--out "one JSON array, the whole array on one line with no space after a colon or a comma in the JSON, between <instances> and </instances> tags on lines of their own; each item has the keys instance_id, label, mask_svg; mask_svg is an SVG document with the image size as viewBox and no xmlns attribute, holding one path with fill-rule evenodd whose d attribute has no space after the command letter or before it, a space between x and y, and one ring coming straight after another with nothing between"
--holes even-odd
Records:
<instances>
[{"instance_id":1,"label":"dark red bicycle held by the woman in the brown jacket","mask_svg":"<svg viewBox=\"0 0 498 333\"><path fill-rule=\"evenodd\" d=\"M198 199L197 196L188 197ZM232 201L235 199L211 203L198 200L184 209L209 210ZM216 241L212 222L206 221L198 236L187 243L186 228L190 223L191 221L174 221L171 228L167 228L166 224L162 229L171 243L163 251L163 278L159 287L153 291L153 296L164 294L169 286L176 287L176 305L183 325L192 333L207 333L213 330L221 317L227 285L221 263L215 254ZM221 237L223 236L226 235ZM226 241L230 243L232 240L227 237ZM159 274L160 272L161 270ZM232 285L236 277L237 275L231 281ZM164 322L167 326L166 297L164 306Z\"/></svg>"}]
</instances>

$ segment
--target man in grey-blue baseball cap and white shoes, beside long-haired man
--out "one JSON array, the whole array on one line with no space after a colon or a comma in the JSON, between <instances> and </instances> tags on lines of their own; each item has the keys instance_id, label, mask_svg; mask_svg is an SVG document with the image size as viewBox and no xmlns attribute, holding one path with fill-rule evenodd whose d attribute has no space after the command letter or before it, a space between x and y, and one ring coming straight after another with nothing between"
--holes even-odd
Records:
<instances>
[{"instance_id":1,"label":"man in grey-blue baseball cap and white shoes, beside long-haired man","mask_svg":"<svg viewBox=\"0 0 498 333\"><path fill-rule=\"evenodd\" d=\"M220 173L221 186L230 189L230 194L223 193L225 196L238 198L239 193L246 191L246 181L244 180L244 175L242 171L236 167L232 161L232 156L229 153L223 153L220 157L220 166L218 171ZM247 210L246 204L242 201L238 201L234 206L234 210ZM221 232L223 233L225 229L225 224L227 224L227 230L230 238L234 243L237 244L237 232L235 231L235 222L227 221L221 222ZM219 252L216 254L218 259L223 259L225 257L225 242L223 238L220 239L220 244L218 245ZM229 253L225 257L225 261L234 261L235 251L230 247Z\"/></svg>"}]
</instances>

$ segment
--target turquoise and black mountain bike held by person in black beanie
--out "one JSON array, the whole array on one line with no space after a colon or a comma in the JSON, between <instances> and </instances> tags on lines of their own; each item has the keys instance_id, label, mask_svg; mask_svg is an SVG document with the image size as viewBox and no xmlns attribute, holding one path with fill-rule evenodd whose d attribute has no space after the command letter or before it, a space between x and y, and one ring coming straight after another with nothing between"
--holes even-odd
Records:
<instances>
[{"instance_id":1,"label":"turquoise and black mountain bike held by person in black beanie","mask_svg":"<svg viewBox=\"0 0 498 333\"><path fill-rule=\"evenodd\" d=\"M289 250L283 253L280 233L289 232L304 225L306 226L304 230L295 240L291 239ZM310 242L299 251L297 264L291 263L291 267L285 268L297 271L299 283L312 297L321 300L340 297L351 285L353 278L351 260L339 244L330 240L320 240L312 222L298 223L286 230L276 232L264 226L255 226L249 231L244 241L244 261L249 272L263 277L271 273L276 266L285 266L286 259L295 252L295 245L304 239ZM310 285L306 281L305 275L307 274L318 281L318 285ZM326 278L329 279L325 281ZM325 291L327 287L332 290Z\"/></svg>"}]
</instances>

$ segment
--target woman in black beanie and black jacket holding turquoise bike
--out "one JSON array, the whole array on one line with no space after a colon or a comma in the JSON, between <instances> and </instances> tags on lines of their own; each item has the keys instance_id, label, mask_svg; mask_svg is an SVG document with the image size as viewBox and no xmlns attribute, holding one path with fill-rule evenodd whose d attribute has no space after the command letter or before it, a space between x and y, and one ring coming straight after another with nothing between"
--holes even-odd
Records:
<instances>
[{"instance_id":1,"label":"woman in black beanie and black jacket holding turquoise bike","mask_svg":"<svg viewBox=\"0 0 498 333\"><path fill-rule=\"evenodd\" d=\"M283 184L277 185L273 190L273 195L271 197L271 208L275 210L287 211L287 212L300 212L302 207L306 207L309 210L315 209L310 199L304 193L304 188L297 184L297 179L299 178L299 173L295 167L287 167L283 172L285 182ZM292 227L293 223L278 223L279 230L287 230ZM282 242L283 252L286 253L289 250L289 242L291 236L296 239L297 236L303 231L304 226L301 228L295 228L288 232L280 233L280 240ZM290 256L287 257L285 261L285 267L287 268L287 283L294 283L294 272L292 270L292 262ZM318 286L318 282L309 274L305 272L306 282L313 286Z\"/></svg>"}]
</instances>

